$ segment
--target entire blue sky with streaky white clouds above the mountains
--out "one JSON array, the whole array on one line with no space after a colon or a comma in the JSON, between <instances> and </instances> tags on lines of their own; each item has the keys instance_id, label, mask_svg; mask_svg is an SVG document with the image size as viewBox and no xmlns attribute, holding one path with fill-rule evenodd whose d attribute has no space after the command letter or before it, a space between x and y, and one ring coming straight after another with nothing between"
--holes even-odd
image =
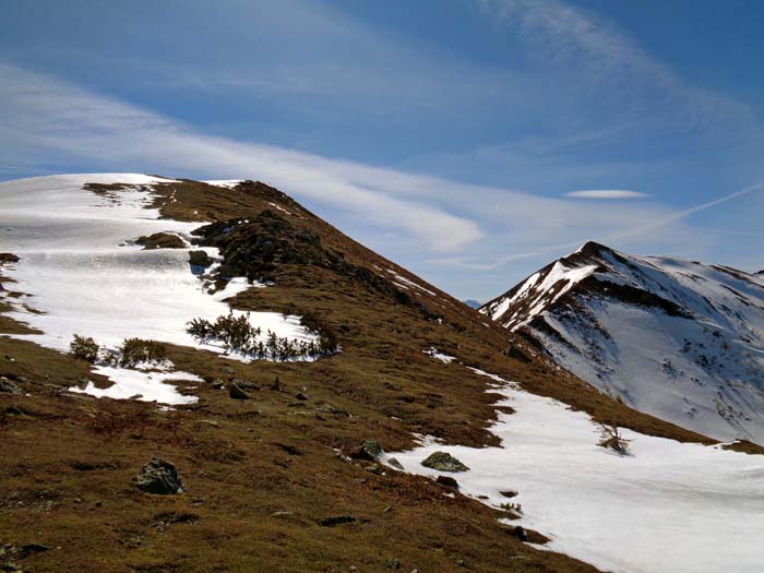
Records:
<instances>
[{"instance_id":1,"label":"entire blue sky with streaky white clouds above the mountains","mask_svg":"<svg viewBox=\"0 0 764 573\"><path fill-rule=\"evenodd\" d=\"M743 0L5 0L0 180L261 180L481 301L587 240L760 271L762 21Z\"/></svg>"}]
</instances>

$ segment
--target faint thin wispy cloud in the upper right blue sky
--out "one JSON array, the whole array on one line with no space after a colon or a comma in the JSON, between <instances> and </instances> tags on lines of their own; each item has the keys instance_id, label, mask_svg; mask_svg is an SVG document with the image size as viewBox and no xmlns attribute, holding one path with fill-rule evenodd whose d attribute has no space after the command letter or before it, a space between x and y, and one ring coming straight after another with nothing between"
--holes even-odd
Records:
<instances>
[{"instance_id":1,"label":"faint thin wispy cloud in the upper right blue sky","mask_svg":"<svg viewBox=\"0 0 764 573\"><path fill-rule=\"evenodd\" d=\"M659 121L699 134L735 133L755 123L751 109L682 80L617 24L561 0L474 0L497 25L512 25L533 53L643 121Z\"/></svg>"}]
</instances>

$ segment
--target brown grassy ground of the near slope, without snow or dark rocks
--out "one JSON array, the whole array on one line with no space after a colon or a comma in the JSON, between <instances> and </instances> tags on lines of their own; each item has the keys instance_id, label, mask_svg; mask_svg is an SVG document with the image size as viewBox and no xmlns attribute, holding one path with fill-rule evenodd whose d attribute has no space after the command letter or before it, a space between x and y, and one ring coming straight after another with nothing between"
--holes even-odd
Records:
<instances>
[{"instance_id":1,"label":"brown grassy ground of the near slope, without snow or dark rocks","mask_svg":"<svg viewBox=\"0 0 764 573\"><path fill-rule=\"evenodd\" d=\"M151 404L62 392L93 378L83 362L0 337L0 374L31 394L0 394L0 545L53 548L23 560L16 556L25 569L348 571L356 565L385 571L397 559L402 571L463 571L458 560L486 572L593 571L521 544L497 521L498 512L476 501L450 498L420 477L380 476L368 464L337 457L365 438L387 450L408 447L411 432L471 445L494 442L487 431L494 411L491 395L484 392L486 379L425 356L422 349L430 346L599 419L704 441L634 413L544 362L503 356L504 331L486 326L477 312L275 190L184 182L163 186L159 192L163 214L172 218L222 220L272 208L268 203L288 208L305 217L293 223L348 260L394 268L437 293L418 298L441 313L444 324L426 320L416 308L394 306L348 277L282 265L276 286L251 289L235 305L312 308L339 330L343 353L313 363L243 365L171 347L169 358L180 369L210 380L242 378L263 390L238 402L205 383L194 391L199 404L168 413ZM2 332L23 329L0 320ZM285 392L267 390L275 375ZM310 399L297 401L300 391ZM327 405L351 417L331 414ZM154 455L178 466L186 493L157 497L131 487L131 477ZM357 521L337 527L317 523L337 515Z\"/></svg>"}]
</instances>

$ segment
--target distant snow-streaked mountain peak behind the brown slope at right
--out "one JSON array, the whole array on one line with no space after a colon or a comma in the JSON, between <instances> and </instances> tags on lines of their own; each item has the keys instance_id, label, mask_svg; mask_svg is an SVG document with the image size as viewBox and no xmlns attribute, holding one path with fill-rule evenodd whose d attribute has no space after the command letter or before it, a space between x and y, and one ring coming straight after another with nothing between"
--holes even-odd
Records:
<instances>
[{"instance_id":1,"label":"distant snow-streaked mountain peak behind the brown slope at right","mask_svg":"<svg viewBox=\"0 0 764 573\"><path fill-rule=\"evenodd\" d=\"M480 312L624 404L764 443L764 279L588 242Z\"/></svg>"}]
</instances>

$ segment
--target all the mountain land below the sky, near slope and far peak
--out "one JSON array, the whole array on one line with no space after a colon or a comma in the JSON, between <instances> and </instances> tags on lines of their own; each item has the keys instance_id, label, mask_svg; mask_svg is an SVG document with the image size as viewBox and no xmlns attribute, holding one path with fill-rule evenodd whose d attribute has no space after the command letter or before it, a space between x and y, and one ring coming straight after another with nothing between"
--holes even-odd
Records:
<instances>
[{"instance_id":1,"label":"all the mountain land below the sky, near slope and far peak","mask_svg":"<svg viewBox=\"0 0 764 573\"><path fill-rule=\"evenodd\" d=\"M0 568L761 571L763 297L588 243L477 311L262 182L2 182Z\"/></svg>"}]
</instances>

